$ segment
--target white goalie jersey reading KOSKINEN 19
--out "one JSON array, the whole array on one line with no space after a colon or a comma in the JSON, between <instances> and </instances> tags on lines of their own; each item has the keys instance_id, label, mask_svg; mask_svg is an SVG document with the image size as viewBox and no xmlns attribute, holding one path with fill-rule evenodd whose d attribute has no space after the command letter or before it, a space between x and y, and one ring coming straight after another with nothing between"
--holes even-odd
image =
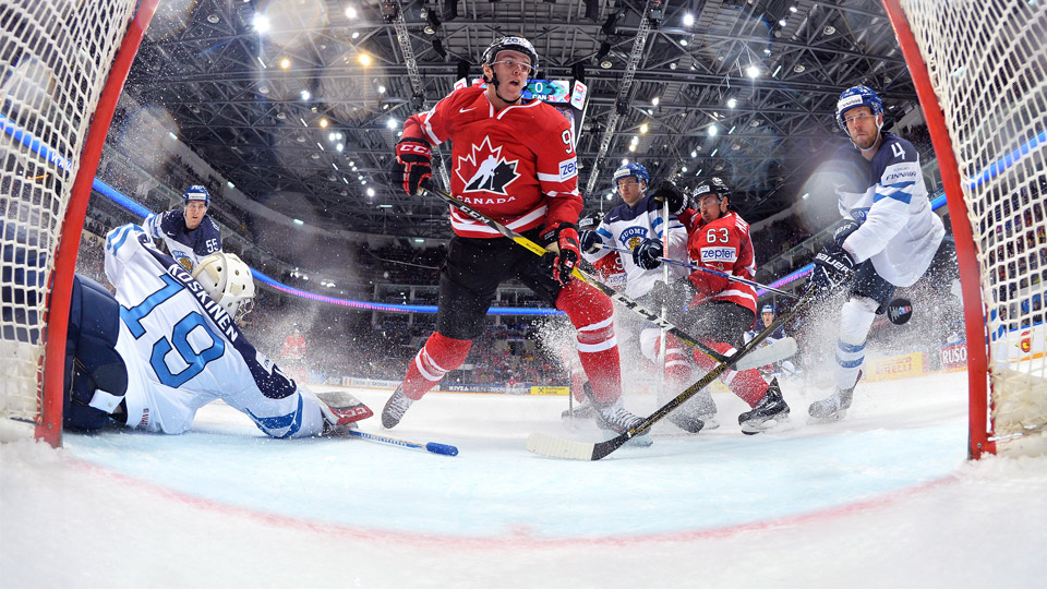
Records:
<instances>
[{"instance_id":1,"label":"white goalie jersey reading KOSKINEN 19","mask_svg":"<svg viewBox=\"0 0 1047 589\"><path fill-rule=\"evenodd\" d=\"M181 433L217 399L274 437L318 435L320 400L248 342L203 287L155 250L141 227L106 236L106 276L120 303L117 351L128 368L128 426Z\"/></svg>"}]
</instances>

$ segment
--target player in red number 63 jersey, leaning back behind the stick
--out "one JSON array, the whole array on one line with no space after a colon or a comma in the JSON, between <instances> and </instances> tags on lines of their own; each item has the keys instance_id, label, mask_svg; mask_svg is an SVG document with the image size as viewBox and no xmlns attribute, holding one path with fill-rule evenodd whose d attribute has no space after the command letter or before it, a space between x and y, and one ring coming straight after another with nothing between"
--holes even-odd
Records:
<instances>
[{"instance_id":1,"label":"player in red number 63 jersey, leaning back behind the stick","mask_svg":"<svg viewBox=\"0 0 1047 589\"><path fill-rule=\"evenodd\" d=\"M727 208L730 196L730 189L719 178L695 189L696 206L689 225L694 230L687 251L693 265L751 280L756 260L749 224ZM742 347L745 332L756 321L756 291L751 286L700 269L691 273L688 280L655 288L655 291L652 297L659 304L681 315L675 317L677 325L685 326L687 333L724 354ZM679 310L682 301L689 301L686 312ZM715 360L698 350L695 350L695 362L707 371L717 365ZM720 380L753 408L738 416L744 433L759 433L769 428L768 421L773 420L777 425L787 419L789 405L782 398L777 380L768 384L756 369L726 371Z\"/></svg>"}]
</instances>

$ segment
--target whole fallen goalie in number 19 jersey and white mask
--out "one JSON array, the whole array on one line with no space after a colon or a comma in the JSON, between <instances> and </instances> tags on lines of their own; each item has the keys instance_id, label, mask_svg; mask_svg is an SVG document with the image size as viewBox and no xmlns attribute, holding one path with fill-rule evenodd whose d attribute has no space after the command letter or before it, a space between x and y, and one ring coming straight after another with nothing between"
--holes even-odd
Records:
<instances>
[{"instance_id":1,"label":"whole fallen goalie in number 19 jersey and white mask","mask_svg":"<svg viewBox=\"0 0 1047 589\"><path fill-rule=\"evenodd\" d=\"M218 399L273 437L338 433L372 414L350 395L299 387L248 342L236 320L250 306L254 281L237 256L201 260L194 278L129 224L106 237L106 276L116 300L81 276L73 288L67 428L113 420L178 434Z\"/></svg>"}]
</instances>

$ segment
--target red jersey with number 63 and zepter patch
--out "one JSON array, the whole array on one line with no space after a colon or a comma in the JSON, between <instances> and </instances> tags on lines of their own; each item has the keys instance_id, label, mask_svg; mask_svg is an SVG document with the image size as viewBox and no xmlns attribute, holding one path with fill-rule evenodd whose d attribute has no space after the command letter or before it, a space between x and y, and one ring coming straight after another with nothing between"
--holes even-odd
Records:
<instances>
[{"instance_id":1,"label":"red jersey with number 63 and zepter patch","mask_svg":"<svg viewBox=\"0 0 1047 589\"><path fill-rule=\"evenodd\" d=\"M697 215L696 223L700 224ZM753 240L749 238L749 224L737 213L730 212L719 219L699 225L687 242L690 263L710 269L753 279L756 274L756 257L753 253ZM701 271L695 271L691 279L698 281ZM708 301L729 301L741 304L756 315L756 290L749 285L731 280L723 290L709 296Z\"/></svg>"}]
</instances>

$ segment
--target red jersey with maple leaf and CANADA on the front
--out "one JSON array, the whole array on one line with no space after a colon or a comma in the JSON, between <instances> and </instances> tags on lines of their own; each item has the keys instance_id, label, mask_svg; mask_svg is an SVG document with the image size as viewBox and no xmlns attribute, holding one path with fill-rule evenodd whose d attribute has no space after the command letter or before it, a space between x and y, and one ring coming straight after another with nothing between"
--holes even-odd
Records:
<instances>
[{"instance_id":1,"label":"red jersey with maple leaf and CANADA on the front","mask_svg":"<svg viewBox=\"0 0 1047 589\"><path fill-rule=\"evenodd\" d=\"M540 100L496 111L479 86L459 88L404 123L405 137L452 142L450 192L515 231L578 223L578 161L570 123ZM455 233L501 233L450 207Z\"/></svg>"}]
</instances>

